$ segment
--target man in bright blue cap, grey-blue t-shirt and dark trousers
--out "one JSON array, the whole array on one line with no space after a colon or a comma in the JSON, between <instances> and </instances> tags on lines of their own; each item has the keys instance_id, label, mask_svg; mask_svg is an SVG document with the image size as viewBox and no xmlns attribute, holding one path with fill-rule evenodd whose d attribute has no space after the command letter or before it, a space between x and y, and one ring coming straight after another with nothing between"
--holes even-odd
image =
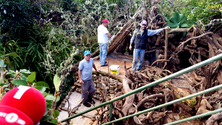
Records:
<instances>
[{"instance_id":1,"label":"man in bright blue cap, grey-blue t-shirt and dark trousers","mask_svg":"<svg viewBox=\"0 0 222 125\"><path fill-rule=\"evenodd\" d=\"M90 57L91 57L91 52L89 50L86 50L84 52L84 59L79 63L79 70L78 70L79 82L81 84L83 105L85 105L86 107L90 107L91 106L90 103L95 104L95 102L92 99L95 93L95 86L92 80L92 67L95 69L96 72L98 72L93 59Z\"/></svg>"}]
</instances>

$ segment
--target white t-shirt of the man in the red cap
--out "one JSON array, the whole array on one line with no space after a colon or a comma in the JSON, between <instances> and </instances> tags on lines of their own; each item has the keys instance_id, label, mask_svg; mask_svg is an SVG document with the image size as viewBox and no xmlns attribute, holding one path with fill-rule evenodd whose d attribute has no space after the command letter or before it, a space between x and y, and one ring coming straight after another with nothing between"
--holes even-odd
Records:
<instances>
[{"instance_id":1,"label":"white t-shirt of the man in the red cap","mask_svg":"<svg viewBox=\"0 0 222 125\"><path fill-rule=\"evenodd\" d=\"M97 28L98 32L98 43L108 43L108 35L109 31L102 24Z\"/></svg>"}]
</instances>

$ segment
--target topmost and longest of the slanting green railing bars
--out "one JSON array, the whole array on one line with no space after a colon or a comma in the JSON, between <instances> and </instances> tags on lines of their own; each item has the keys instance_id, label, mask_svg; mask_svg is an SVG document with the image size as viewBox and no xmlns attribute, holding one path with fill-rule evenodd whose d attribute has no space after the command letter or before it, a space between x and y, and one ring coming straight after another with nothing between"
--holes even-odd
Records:
<instances>
[{"instance_id":1,"label":"topmost and longest of the slanting green railing bars","mask_svg":"<svg viewBox=\"0 0 222 125\"><path fill-rule=\"evenodd\" d=\"M140 88L134 89L134 90L132 90L132 91L129 92L129 93L125 93L125 94L123 94L123 95L121 95L121 96L118 96L118 97L112 99L112 100L106 101L106 102L104 102L104 103L102 103L102 104L99 104L99 105L97 105L97 106L95 106L95 107L92 107L92 108L90 108L90 109L88 109L88 110L86 110L86 111L83 111L83 112L80 112L80 113L78 113L78 114L75 114L75 115L73 115L73 116L71 116L71 117L69 117L69 118L66 118L66 119L64 119L64 120L61 120L60 122L64 122L64 121L67 121L67 120L69 120L69 119L78 117L78 116L80 116L80 115L82 115L82 114L85 114L85 113L87 113L87 112L90 112L90 111L92 111L92 110L95 110L95 109L97 109L97 108L100 108L100 107L102 107L102 106L105 106L105 105L107 105L107 104L113 103L113 102L115 102L115 101L117 101L117 100L120 100L120 99L122 99L122 98L125 98L125 97L127 97L127 96L130 96L130 95L135 94L135 93L137 93L137 92L140 92L140 91L142 91L142 90L144 90L144 89L147 89L147 88L152 87L152 86L154 86L154 85L157 85L157 84L159 84L159 83L165 82L165 81L167 81L167 80L169 80L169 79L172 79L172 78L174 78L174 77L180 76L180 75L182 75L182 74L184 74L184 73L190 72L190 71L192 71L192 70L194 70L194 69L200 68L200 67L202 67L202 66L204 66L204 65L207 65L207 64L212 63L212 62L214 62L214 61L217 61L217 60L219 60L219 59L222 59L222 54L216 55L216 56L214 56L214 57L212 57L212 58L209 58L209 59L207 59L207 60L204 60L204 61L202 61L202 62L200 62L200 63L197 63L197 64L195 64L195 65L193 65L193 66L190 66L190 67L188 67L188 68L186 68L186 69L180 70L180 71L178 71L178 72L176 72L176 73L174 73L174 74L171 74L171 75L169 75L169 76L166 76L166 77L164 77L164 78L161 78L161 79L159 79L159 80L156 80L156 81L154 81L154 82L152 82L152 83L149 83L149 84L147 84L147 85L144 85L144 86L142 86L142 87L140 87Z\"/></svg>"}]
</instances>

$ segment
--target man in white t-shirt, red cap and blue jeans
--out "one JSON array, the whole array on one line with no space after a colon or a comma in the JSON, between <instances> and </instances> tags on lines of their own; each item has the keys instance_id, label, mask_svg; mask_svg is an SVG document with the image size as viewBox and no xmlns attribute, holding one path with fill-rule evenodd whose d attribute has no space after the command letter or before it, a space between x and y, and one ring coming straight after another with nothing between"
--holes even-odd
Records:
<instances>
[{"instance_id":1,"label":"man in white t-shirt, red cap and blue jeans","mask_svg":"<svg viewBox=\"0 0 222 125\"><path fill-rule=\"evenodd\" d=\"M104 19L102 20L102 24L99 25L99 27L97 28L101 66L107 66L106 55L107 55L107 48L108 48L108 38L111 38L111 34L107 30L108 24L109 24L109 21L107 19Z\"/></svg>"}]
</instances>

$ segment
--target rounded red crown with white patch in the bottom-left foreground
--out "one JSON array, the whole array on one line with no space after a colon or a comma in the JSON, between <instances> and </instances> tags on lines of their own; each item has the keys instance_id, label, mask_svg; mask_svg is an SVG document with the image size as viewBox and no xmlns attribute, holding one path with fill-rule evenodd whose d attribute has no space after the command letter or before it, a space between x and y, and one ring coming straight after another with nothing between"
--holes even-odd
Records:
<instances>
[{"instance_id":1,"label":"rounded red crown with white patch in the bottom-left foreground","mask_svg":"<svg viewBox=\"0 0 222 125\"><path fill-rule=\"evenodd\" d=\"M28 86L19 86L4 95L0 106L8 106L21 111L33 121L33 125L36 125L45 113L46 101L39 90ZM19 114L17 115L20 117Z\"/></svg>"}]
</instances>

